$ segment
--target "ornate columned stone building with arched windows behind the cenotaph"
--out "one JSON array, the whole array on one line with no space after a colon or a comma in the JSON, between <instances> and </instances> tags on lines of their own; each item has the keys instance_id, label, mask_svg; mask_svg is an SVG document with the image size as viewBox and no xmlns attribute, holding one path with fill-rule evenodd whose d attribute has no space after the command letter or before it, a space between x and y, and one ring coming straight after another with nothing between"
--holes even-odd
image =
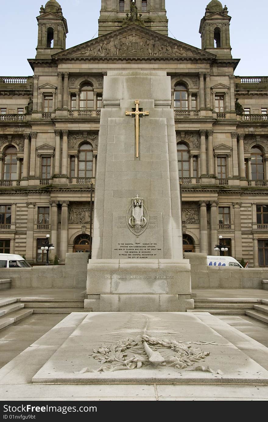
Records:
<instances>
[{"instance_id":1,"label":"ornate columned stone building with arched windows behind the cenotaph","mask_svg":"<svg viewBox=\"0 0 268 422\"><path fill-rule=\"evenodd\" d=\"M227 7L204 12L198 49L168 37L165 0L101 0L98 38L66 49L60 4L41 7L34 75L0 77L0 253L42 264L47 234L51 262L90 253L101 111L120 107L105 100L106 74L164 70L184 250L218 254L221 235L226 254L268 266L268 77L234 75Z\"/></svg>"}]
</instances>

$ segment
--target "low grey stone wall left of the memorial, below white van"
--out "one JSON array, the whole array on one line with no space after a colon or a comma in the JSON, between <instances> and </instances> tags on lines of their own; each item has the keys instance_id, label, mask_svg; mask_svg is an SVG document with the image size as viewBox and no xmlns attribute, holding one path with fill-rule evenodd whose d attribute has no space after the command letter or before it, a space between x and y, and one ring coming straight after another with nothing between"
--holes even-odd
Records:
<instances>
[{"instance_id":1,"label":"low grey stone wall left of the memorial, below white van","mask_svg":"<svg viewBox=\"0 0 268 422\"><path fill-rule=\"evenodd\" d=\"M88 253L66 254L65 265L0 268L0 279L11 279L11 288L85 288Z\"/></svg>"}]
</instances>

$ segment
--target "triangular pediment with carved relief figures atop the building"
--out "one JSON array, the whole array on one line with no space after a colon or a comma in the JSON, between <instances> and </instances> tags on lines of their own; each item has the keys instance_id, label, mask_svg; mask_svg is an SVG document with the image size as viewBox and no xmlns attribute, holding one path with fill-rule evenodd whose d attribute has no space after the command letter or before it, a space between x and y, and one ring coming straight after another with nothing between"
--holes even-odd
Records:
<instances>
[{"instance_id":1,"label":"triangular pediment with carved relief figures atop the building","mask_svg":"<svg viewBox=\"0 0 268 422\"><path fill-rule=\"evenodd\" d=\"M216 56L135 24L53 55L55 59L87 57L111 60L121 57L213 59Z\"/></svg>"}]
</instances>

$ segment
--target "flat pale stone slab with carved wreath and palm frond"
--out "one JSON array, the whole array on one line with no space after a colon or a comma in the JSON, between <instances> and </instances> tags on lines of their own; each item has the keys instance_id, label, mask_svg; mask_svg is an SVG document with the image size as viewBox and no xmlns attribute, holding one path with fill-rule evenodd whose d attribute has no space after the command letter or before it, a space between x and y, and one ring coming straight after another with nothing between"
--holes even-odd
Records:
<instances>
[{"instance_id":1,"label":"flat pale stone slab with carved wreath and palm frond","mask_svg":"<svg viewBox=\"0 0 268 422\"><path fill-rule=\"evenodd\" d=\"M67 318L70 325L76 313ZM32 382L268 384L268 371L211 328L210 318L213 326L210 314L205 323L182 312L88 313Z\"/></svg>"}]
</instances>

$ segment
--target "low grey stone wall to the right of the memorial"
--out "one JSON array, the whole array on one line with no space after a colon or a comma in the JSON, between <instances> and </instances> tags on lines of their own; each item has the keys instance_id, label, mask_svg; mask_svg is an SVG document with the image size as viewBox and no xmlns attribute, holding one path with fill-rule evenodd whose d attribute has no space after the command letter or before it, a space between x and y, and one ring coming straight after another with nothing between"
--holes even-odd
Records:
<instances>
[{"instance_id":1,"label":"low grey stone wall to the right of the memorial","mask_svg":"<svg viewBox=\"0 0 268 422\"><path fill-rule=\"evenodd\" d=\"M211 267L206 254L185 253L191 264L192 289L262 289L268 268Z\"/></svg>"}]
</instances>

